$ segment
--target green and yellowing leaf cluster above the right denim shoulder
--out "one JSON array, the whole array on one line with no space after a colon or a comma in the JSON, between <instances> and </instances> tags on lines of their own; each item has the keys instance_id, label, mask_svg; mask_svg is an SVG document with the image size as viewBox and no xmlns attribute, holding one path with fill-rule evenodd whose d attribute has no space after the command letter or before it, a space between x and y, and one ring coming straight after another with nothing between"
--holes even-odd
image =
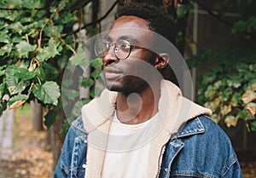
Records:
<instances>
[{"instance_id":1,"label":"green and yellowing leaf cluster above the right denim shoulder","mask_svg":"<svg viewBox=\"0 0 256 178\"><path fill-rule=\"evenodd\" d=\"M241 51L203 53L215 60L208 72L200 79L199 102L209 107L216 122L224 120L227 127L236 127L239 119L246 121L247 128L255 130L256 80L254 55L242 55ZM233 56L234 59L229 59ZM201 55L198 55L201 60ZM194 56L194 60L196 57ZM199 64L199 63L198 63ZM207 66L204 64L204 66Z\"/></svg>"}]
</instances>

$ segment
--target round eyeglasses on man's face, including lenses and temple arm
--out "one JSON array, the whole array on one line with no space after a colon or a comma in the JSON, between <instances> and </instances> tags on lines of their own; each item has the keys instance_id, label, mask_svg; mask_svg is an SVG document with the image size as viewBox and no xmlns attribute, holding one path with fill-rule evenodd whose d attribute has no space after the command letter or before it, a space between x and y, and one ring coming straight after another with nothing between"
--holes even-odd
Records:
<instances>
[{"instance_id":1,"label":"round eyeglasses on man's face, including lenses and temple arm","mask_svg":"<svg viewBox=\"0 0 256 178\"><path fill-rule=\"evenodd\" d=\"M113 46L113 54L119 60L125 60L131 54L131 49L145 49L140 46L132 45L126 40L119 40L116 43L109 42L106 39L98 39L95 43L95 53L98 57L106 55L108 50Z\"/></svg>"}]
</instances>

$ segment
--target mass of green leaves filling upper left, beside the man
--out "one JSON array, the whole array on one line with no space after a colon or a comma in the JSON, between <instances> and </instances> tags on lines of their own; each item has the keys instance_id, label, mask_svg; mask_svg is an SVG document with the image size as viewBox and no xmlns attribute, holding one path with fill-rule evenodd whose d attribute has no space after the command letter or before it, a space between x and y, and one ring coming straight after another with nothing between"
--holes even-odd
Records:
<instances>
[{"instance_id":1,"label":"mass of green leaves filling upper left, beside the man","mask_svg":"<svg viewBox=\"0 0 256 178\"><path fill-rule=\"evenodd\" d=\"M78 36L73 26L79 22L79 9L73 7L75 4L80 5L69 0L0 1L0 115L7 106L15 108L34 99L49 110L61 106L57 83L61 83L68 59L77 50ZM84 59L84 51L79 51L77 57L79 62ZM84 60L79 65L89 63ZM71 91L70 98L79 95ZM3 100L3 95L9 95L9 100ZM49 112L46 118L55 118L55 114ZM53 122L46 119L45 125L49 127Z\"/></svg>"}]
</instances>

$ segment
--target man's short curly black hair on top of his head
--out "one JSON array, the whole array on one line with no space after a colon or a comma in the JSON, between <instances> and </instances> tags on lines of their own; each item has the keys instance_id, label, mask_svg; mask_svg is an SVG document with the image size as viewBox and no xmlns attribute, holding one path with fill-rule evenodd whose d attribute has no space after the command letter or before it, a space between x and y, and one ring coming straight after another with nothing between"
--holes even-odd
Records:
<instances>
[{"instance_id":1,"label":"man's short curly black hair on top of his head","mask_svg":"<svg viewBox=\"0 0 256 178\"><path fill-rule=\"evenodd\" d=\"M124 15L133 15L147 20L151 31L166 37L171 43L175 43L175 30L172 20L160 8L149 3L127 3L119 10L118 17Z\"/></svg>"}]
</instances>

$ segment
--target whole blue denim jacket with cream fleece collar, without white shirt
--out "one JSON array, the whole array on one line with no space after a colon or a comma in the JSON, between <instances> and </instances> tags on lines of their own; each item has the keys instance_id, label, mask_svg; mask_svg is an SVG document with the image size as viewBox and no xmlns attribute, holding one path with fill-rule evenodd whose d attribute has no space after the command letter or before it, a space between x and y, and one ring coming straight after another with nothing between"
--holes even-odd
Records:
<instances>
[{"instance_id":1,"label":"whole blue denim jacket with cream fleece collar, without white shirt","mask_svg":"<svg viewBox=\"0 0 256 178\"><path fill-rule=\"evenodd\" d=\"M83 106L82 117L67 133L55 177L101 178L116 96L117 92L105 89ZM142 170L148 178L241 177L230 140L207 118L212 113L209 109L184 98L175 84L162 80L158 113L145 135L152 138L148 167Z\"/></svg>"}]
</instances>

